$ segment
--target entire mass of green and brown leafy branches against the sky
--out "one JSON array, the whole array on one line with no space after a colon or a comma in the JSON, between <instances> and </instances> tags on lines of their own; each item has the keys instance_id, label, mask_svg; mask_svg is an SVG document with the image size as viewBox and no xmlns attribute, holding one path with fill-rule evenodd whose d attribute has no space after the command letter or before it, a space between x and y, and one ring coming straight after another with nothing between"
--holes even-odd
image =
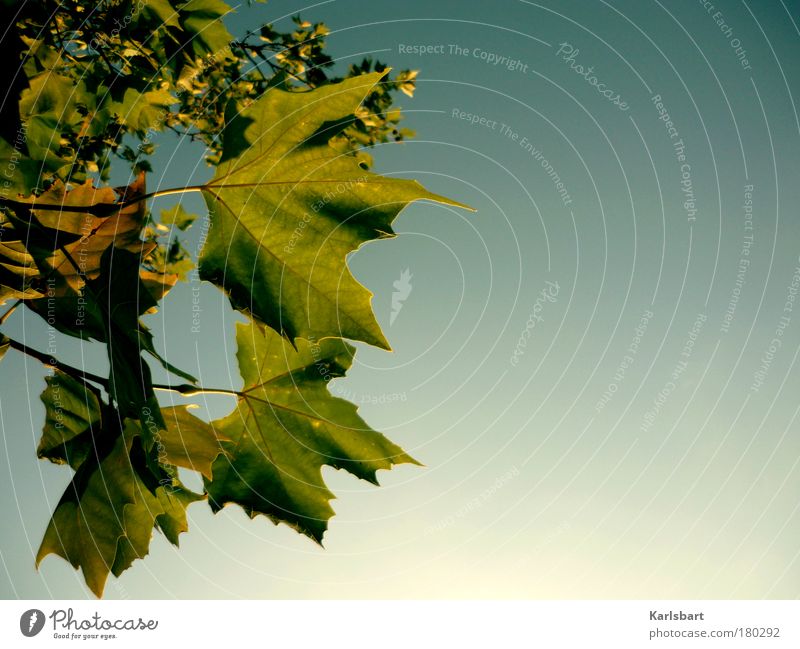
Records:
<instances>
[{"instance_id":1,"label":"entire mass of green and brown leafy branches against the sky","mask_svg":"<svg viewBox=\"0 0 800 649\"><path fill-rule=\"evenodd\" d=\"M61 332L107 346L108 376L3 336L50 366L38 454L75 472L38 560L58 554L94 593L144 556L153 530L177 544L186 507L207 499L263 514L320 541L333 513L329 465L375 482L413 462L327 383L354 354L342 339L388 347L346 255L392 236L411 201L450 202L369 171L365 147L401 140L389 76L364 60L332 73L325 25L294 18L234 39L221 0L4 2L13 29L0 120L0 322L24 306ZM199 191L210 228L199 260L176 238L195 216L149 211L149 157L174 132L205 147ZM107 185L127 165L124 187ZM453 204L453 203L451 203ZM200 393L156 348L141 317L199 261L250 324L237 331L241 391L210 424L162 408L156 390ZM154 385L143 354L177 377ZM215 390L219 391L216 386ZM178 468L199 472L203 493Z\"/></svg>"}]
</instances>

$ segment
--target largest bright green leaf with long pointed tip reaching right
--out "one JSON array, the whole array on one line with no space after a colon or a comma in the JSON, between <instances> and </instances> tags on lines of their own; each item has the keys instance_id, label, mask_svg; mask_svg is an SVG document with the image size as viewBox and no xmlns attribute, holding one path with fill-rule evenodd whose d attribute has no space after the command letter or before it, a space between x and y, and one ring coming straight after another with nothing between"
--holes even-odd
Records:
<instances>
[{"instance_id":1,"label":"largest bright green leaf with long pointed tip reaching right","mask_svg":"<svg viewBox=\"0 0 800 649\"><path fill-rule=\"evenodd\" d=\"M370 173L337 146L334 136L383 75L311 92L270 89L227 125L222 162L203 188L212 227L200 277L292 340L342 337L388 349L347 255L394 236L392 221L412 201L465 207L414 180Z\"/></svg>"}]
</instances>

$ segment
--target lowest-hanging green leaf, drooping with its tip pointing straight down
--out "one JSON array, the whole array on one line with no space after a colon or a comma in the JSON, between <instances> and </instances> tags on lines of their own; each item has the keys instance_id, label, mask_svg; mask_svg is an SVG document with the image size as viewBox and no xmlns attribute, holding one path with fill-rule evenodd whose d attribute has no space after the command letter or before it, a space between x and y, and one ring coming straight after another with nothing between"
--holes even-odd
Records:
<instances>
[{"instance_id":1,"label":"lowest-hanging green leaf, drooping with its tip pointing straight down","mask_svg":"<svg viewBox=\"0 0 800 649\"><path fill-rule=\"evenodd\" d=\"M48 554L63 557L100 597L109 573L119 576L148 553L154 529L177 545L186 507L202 496L148 472L141 430L130 420L123 434L105 430L96 439L53 512L36 564Z\"/></svg>"}]
</instances>

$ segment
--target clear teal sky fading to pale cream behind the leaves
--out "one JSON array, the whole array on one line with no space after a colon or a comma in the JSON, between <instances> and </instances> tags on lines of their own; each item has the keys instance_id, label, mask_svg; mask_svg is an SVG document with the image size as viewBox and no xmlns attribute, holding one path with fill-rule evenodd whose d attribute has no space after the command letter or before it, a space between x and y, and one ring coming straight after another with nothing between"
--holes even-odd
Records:
<instances>
[{"instance_id":1,"label":"clear teal sky fading to pale cream behind the leaves","mask_svg":"<svg viewBox=\"0 0 800 649\"><path fill-rule=\"evenodd\" d=\"M413 205L351 258L394 352L361 349L331 389L425 467L379 489L326 469L324 550L193 505L180 550L156 537L106 596L800 595L800 4L280 0L228 23L298 12L342 67L420 70L400 99L417 137L376 170L478 210ZM202 151L159 147L151 188L210 175ZM190 333L192 288L148 325L173 363L237 386L237 316L203 285ZM8 331L47 347L30 312ZM43 368L9 352L2 370L0 595L89 597L58 558L34 570L69 471L35 457Z\"/></svg>"}]
</instances>

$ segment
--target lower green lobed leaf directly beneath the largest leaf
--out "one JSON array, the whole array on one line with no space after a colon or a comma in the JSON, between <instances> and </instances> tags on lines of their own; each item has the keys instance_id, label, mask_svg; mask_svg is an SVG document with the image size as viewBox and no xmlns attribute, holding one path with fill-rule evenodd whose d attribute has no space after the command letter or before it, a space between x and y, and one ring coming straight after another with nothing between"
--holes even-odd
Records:
<instances>
[{"instance_id":1,"label":"lower green lobed leaf directly beneath the largest leaf","mask_svg":"<svg viewBox=\"0 0 800 649\"><path fill-rule=\"evenodd\" d=\"M236 409L212 422L231 440L206 481L212 509L236 503L321 542L334 497L324 465L377 484L378 469L417 464L328 391L328 381L350 367L352 346L299 339L295 348L255 324L238 324L236 340L244 388Z\"/></svg>"}]
</instances>

